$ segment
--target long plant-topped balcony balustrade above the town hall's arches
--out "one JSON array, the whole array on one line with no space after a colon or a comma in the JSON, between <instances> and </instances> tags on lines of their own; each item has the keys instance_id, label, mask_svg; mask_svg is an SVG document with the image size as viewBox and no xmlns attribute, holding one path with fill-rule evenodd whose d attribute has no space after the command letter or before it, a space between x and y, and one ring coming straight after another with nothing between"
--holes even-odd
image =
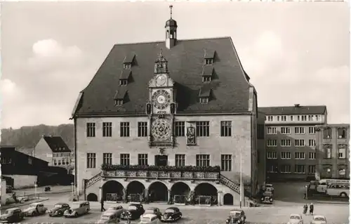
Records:
<instances>
[{"instance_id":1,"label":"long plant-topped balcony balustrade above the town hall's arches","mask_svg":"<svg viewBox=\"0 0 351 224\"><path fill-rule=\"evenodd\" d=\"M143 178L168 180L219 180L220 169L197 166L120 166L102 165L104 178Z\"/></svg>"}]
</instances>

